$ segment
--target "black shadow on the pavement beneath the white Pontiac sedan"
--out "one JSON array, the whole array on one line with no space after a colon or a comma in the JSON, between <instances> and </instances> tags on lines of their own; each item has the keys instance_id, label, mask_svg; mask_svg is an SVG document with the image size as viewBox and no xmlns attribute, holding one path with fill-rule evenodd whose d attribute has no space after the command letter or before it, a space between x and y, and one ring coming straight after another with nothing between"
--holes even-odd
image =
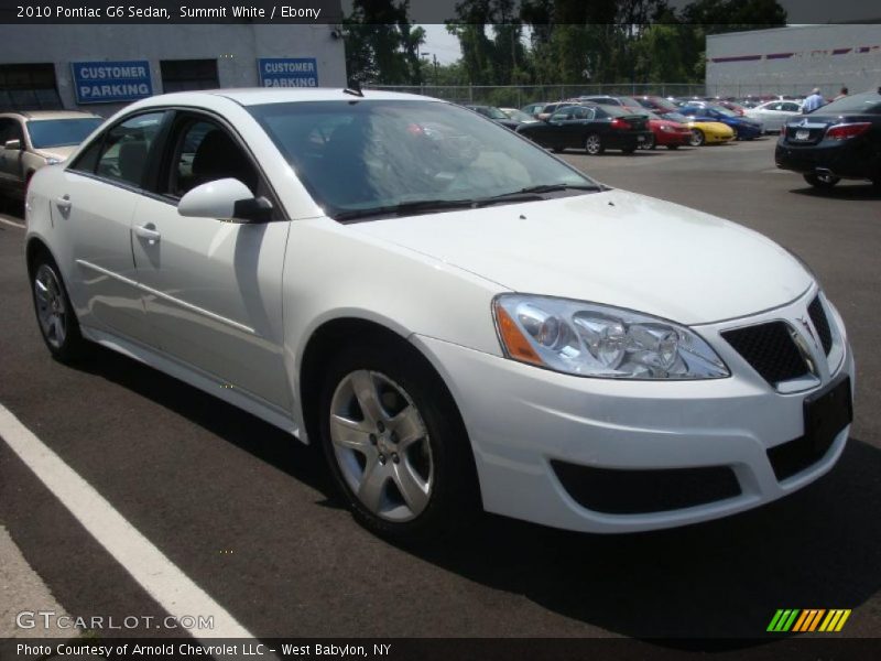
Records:
<instances>
[{"instance_id":1,"label":"black shadow on the pavement beneath the white Pontiac sedan","mask_svg":"<svg viewBox=\"0 0 881 661\"><path fill-rule=\"evenodd\" d=\"M342 507L318 453L281 430L108 349L80 369L200 425ZM777 608L859 607L881 587L881 449L851 438L839 464L788 498L709 523L639 534L554 530L485 514L468 534L402 548L492 589L634 638L754 644ZM356 525L354 521L351 525ZM743 641L730 640L742 638ZM671 640L672 639L672 640ZM681 639L681 643L675 639Z\"/></svg>"}]
</instances>

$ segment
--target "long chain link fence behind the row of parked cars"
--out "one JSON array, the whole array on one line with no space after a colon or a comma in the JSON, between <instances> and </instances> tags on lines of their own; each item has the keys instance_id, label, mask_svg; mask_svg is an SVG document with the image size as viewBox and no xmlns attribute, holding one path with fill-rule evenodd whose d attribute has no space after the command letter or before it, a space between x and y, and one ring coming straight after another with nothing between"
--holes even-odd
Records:
<instances>
[{"instance_id":1,"label":"long chain link fence behind the row of parked cars","mask_svg":"<svg viewBox=\"0 0 881 661\"><path fill-rule=\"evenodd\" d=\"M603 85L371 85L370 89L403 91L435 97L456 104L477 104L501 108L522 108L540 101L561 101L578 96L621 95L661 97L737 97L763 95L804 96L801 85L726 84L703 85L689 83L621 83Z\"/></svg>"}]
</instances>

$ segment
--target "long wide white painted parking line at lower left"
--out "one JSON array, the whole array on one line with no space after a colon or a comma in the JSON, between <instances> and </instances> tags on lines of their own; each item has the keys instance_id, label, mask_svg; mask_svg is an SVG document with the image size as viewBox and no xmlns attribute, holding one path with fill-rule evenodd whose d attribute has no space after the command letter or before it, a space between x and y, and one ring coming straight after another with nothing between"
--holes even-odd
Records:
<instances>
[{"instance_id":1,"label":"long wide white painted parking line at lower left","mask_svg":"<svg viewBox=\"0 0 881 661\"><path fill-rule=\"evenodd\" d=\"M191 630L191 635L199 640L253 638L2 404L0 436L171 616L178 621L184 616L195 617L197 622L199 616L214 617L214 628Z\"/></svg>"}]
</instances>

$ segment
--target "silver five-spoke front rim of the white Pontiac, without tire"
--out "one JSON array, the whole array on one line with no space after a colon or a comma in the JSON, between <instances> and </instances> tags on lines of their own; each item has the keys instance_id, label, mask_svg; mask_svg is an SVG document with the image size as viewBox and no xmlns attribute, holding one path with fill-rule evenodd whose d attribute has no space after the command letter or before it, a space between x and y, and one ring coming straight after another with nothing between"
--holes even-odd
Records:
<instances>
[{"instance_id":1,"label":"silver five-spoke front rim of the white Pontiac, without tire","mask_svg":"<svg viewBox=\"0 0 881 661\"><path fill-rule=\"evenodd\" d=\"M412 398L388 376L346 375L330 402L330 441L342 478L361 505L387 521L411 521L428 505L434 462Z\"/></svg>"}]
</instances>

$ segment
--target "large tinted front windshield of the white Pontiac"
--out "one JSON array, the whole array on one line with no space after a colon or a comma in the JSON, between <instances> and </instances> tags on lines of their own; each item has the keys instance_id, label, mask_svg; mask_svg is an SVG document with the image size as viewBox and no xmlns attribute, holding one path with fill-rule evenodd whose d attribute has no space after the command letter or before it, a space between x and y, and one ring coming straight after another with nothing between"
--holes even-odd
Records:
<instances>
[{"instance_id":1,"label":"large tinted front windshield of the white Pontiac","mask_svg":"<svg viewBox=\"0 0 881 661\"><path fill-rule=\"evenodd\" d=\"M511 130L452 104L302 101L248 110L338 219L527 193L535 198L548 187L600 189Z\"/></svg>"}]
</instances>

